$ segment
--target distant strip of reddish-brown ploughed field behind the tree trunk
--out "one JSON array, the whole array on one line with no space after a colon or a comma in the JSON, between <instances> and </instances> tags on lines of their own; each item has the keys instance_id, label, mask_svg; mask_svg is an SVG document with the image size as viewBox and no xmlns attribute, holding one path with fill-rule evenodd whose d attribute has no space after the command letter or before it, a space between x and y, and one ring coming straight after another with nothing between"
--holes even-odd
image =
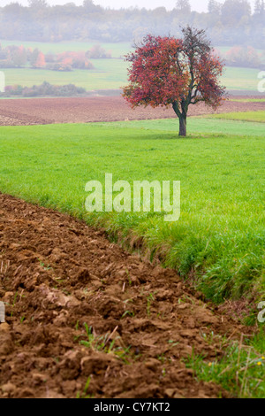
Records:
<instances>
[{"instance_id":1,"label":"distant strip of reddish-brown ploughed field behind the tree trunk","mask_svg":"<svg viewBox=\"0 0 265 416\"><path fill-rule=\"evenodd\" d=\"M248 96L248 98L251 97ZM227 101L217 112L247 112L264 109L265 103ZM212 112L205 104L192 105L189 108L190 116ZM121 96L0 100L0 126L167 119L175 116L171 108L139 107L132 110Z\"/></svg>"}]
</instances>

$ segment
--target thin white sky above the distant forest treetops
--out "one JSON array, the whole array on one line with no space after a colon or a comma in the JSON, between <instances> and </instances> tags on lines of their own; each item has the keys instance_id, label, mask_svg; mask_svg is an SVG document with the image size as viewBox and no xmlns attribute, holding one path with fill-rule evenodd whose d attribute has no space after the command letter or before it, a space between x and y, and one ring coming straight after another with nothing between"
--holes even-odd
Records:
<instances>
[{"instance_id":1,"label":"thin white sky above the distant forest treetops","mask_svg":"<svg viewBox=\"0 0 265 416\"><path fill-rule=\"evenodd\" d=\"M223 3L224 0L219 0ZM27 0L0 0L0 5L3 7L6 4L19 3L27 5ZM47 0L50 5L74 3L77 5L83 4L83 0ZM110 7L112 9L119 9L120 7L128 8L130 6L138 6L140 8L155 9L155 7L165 7L172 10L175 7L177 0L94 0L94 4L100 4L103 7ZM254 0L249 0L250 4L254 4ZM196 12L207 12L208 0L190 0L192 10Z\"/></svg>"}]
</instances>

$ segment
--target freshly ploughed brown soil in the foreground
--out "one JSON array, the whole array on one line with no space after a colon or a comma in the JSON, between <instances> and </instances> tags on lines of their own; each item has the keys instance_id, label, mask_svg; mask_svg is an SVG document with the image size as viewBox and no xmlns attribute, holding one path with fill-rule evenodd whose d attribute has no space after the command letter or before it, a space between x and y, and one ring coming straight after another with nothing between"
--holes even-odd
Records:
<instances>
[{"instance_id":1,"label":"freshly ploughed brown soil in the foreground","mask_svg":"<svg viewBox=\"0 0 265 416\"><path fill-rule=\"evenodd\" d=\"M183 358L211 362L244 327L102 230L3 194L0 300L0 397L74 398L88 377L95 398L229 397Z\"/></svg>"}]
</instances>

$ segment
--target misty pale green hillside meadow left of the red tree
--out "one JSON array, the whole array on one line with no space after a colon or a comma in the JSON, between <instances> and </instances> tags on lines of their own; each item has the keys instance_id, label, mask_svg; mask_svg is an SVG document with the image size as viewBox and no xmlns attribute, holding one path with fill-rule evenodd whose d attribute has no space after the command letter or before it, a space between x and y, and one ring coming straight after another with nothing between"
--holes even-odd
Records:
<instances>
[{"instance_id":1,"label":"misty pale green hillside meadow left of the red tree","mask_svg":"<svg viewBox=\"0 0 265 416\"><path fill-rule=\"evenodd\" d=\"M8 45L20 45L19 41L0 41L3 47ZM98 42L22 42L26 48L38 48L43 53L61 53L67 50L86 51ZM110 51L112 59L90 59L95 70L74 70L72 72L57 72L48 70L35 70L31 68L4 68L6 85L22 85L32 87L40 85L43 81L51 84L64 85L75 84L87 90L94 89L120 89L127 80L127 64L123 59L132 48L129 42L102 43L102 48ZM0 68L1 71L1 68Z\"/></svg>"}]
</instances>

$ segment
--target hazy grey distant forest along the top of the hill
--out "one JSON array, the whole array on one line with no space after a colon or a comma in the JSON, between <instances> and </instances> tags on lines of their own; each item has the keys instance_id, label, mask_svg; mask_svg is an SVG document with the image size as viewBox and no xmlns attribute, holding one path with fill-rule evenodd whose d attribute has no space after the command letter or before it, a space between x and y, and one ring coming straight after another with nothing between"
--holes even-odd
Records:
<instances>
[{"instance_id":1,"label":"hazy grey distant forest along the top of the hill","mask_svg":"<svg viewBox=\"0 0 265 416\"><path fill-rule=\"evenodd\" d=\"M28 6L11 3L0 7L0 39L38 42L88 41L138 42L152 35L180 35L187 24L207 29L216 45L251 45L264 48L264 0L254 11L247 0L208 1L208 12L193 12L189 0L175 8L155 10L104 9L92 0L49 6L46 0L28 0Z\"/></svg>"}]
</instances>

